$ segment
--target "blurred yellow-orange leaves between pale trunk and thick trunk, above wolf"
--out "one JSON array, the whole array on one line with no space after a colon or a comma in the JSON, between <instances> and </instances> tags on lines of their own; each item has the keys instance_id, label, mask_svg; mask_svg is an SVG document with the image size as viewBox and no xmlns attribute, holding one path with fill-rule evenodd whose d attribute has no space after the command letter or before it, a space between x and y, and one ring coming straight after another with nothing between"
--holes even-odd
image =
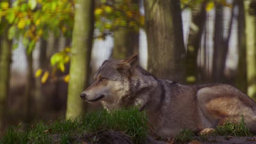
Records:
<instances>
[{"instance_id":1,"label":"blurred yellow-orange leaves between pale trunk and thick trunk, above wolf","mask_svg":"<svg viewBox=\"0 0 256 144\"><path fill-rule=\"evenodd\" d=\"M98 38L121 27L138 31L144 26L145 18L139 11L138 3L131 0L98 0L95 3L95 28L100 31Z\"/></svg>"}]
</instances>

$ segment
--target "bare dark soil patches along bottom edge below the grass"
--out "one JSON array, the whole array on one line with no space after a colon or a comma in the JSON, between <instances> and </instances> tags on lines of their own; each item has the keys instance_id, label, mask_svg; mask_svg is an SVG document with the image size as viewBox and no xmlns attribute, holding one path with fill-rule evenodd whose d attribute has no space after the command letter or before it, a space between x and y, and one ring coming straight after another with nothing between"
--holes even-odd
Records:
<instances>
[{"instance_id":1,"label":"bare dark soil patches along bottom edge below the grass","mask_svg":"<svg viewBox=\"0 0 256 144\"><path fill-rule=\"evenodd\" d=\"M208 137L207 139L200 139L196 137L189 144L256 144L256 137L231 137L231 136L215 136ZM57 140L58 141L58 140ZM132 139L122 132L116 131L106 131L97 132L92 134L83 135L83 137L78 137L73 139L73 143L83 143L83 144L132 144ZM158 141L152 137L148 137L142 144L174 144L173 140L169 141Z\"/></svg>"}]
</instances>

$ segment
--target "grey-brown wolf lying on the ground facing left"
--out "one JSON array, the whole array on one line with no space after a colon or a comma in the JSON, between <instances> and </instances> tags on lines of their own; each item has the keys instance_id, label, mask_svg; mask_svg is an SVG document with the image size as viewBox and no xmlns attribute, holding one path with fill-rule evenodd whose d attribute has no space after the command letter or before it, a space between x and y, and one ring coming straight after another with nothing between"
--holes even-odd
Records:
<instances>
[{"instance_id":1,"label":"grey-brown wolf lying on the ground facing left","mask_svg":"<svg viewBox=\"0 0 256 144\"><path fill-rule=\"evenodd\" d=\"M234 86L175 83L156 78L137 61L138 55L105 60L81 98L100 101L106 109L138 106L160 137L173 137L181 129L204 131L227 120L238 123L241 115L251 132L256 132L256 102Z\"/></svg>"}]
</instances>

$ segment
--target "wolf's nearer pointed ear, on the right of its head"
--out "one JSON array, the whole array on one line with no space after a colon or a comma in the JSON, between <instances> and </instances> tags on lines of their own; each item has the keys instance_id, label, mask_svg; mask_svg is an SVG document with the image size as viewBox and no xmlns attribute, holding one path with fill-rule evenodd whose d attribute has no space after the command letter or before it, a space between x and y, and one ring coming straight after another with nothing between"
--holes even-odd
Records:
<instances>
[{"instance_id":1,"label":"wolf's nearer pointed ear, on the right of its head","mask_svg":"<svg viewBox=\"0 0 256 144\"><path fill-rule=\"evenodd\" d=\"M130 69L132 66L134 66L138 61L138 55L132 55L131 57L122 60L120 63L117 64L117 70L118 71L124 71Z\"/></svg>"}]
</instances>

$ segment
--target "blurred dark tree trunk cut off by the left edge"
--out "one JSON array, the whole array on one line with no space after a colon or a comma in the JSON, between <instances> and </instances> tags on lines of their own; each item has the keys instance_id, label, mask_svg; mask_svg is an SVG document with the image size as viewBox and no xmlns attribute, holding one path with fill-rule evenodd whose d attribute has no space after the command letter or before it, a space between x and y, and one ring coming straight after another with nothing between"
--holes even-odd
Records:
<instances>
[{"instance_id":1,"label":"blurred dark tree trunk cut off by the left edge","mask_svg":"<svg viewBox=\"0 0 256 144\"><path fill-rule=\"evenodd\" d=\"M4 0L0 4L0 10L8 9L10 1ZM3 129L3 123L6 113L7 98L9 94L10 64L12 41L8 39L7 30L9 25L6 20L0 17L0 132Z\"/></svg>"}]
</instances>

